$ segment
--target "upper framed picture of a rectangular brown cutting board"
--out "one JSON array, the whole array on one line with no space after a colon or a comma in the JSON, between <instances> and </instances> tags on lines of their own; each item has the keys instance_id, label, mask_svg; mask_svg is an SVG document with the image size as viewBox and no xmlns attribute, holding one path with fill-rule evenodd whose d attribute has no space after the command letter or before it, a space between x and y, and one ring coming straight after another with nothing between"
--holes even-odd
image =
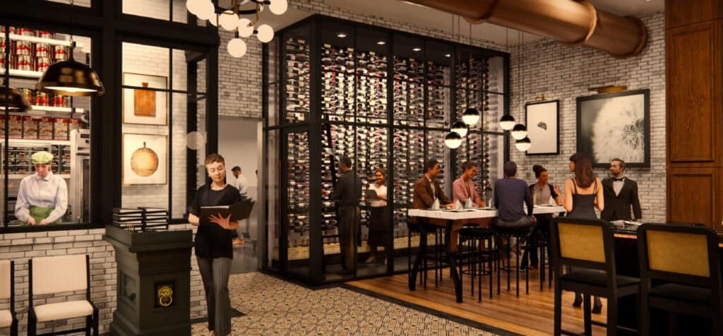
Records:
<instances>
[{"instance_id":1,"label":"upper framed picture of a rectangular brown cutting board","mask_svg":"<svg viewBox=\"0 0 723 336\"><path fill-rule=\"evenodd\" d=\"M168 78L124 72L123 85L168 90ZM124 88L123 123L165 126L168 123L168 92Z\"/></svg>"}]
</instances>

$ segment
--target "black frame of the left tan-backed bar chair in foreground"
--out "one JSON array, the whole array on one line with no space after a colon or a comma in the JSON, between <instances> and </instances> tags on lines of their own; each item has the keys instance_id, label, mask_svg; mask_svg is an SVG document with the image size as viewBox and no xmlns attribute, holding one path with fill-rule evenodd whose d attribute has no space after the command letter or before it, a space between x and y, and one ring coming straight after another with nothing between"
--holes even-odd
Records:
<instances>
[{"instance_id":1,"label":"black frame of the left tan-backed bar chair in foreground","mask_svg":"<svg viewBox=\"0 0 723 336\"><path fill-rule=\"evenodd\" d=\"M557 228L557 225L560 223L599 227L602 234L605 262L591 262L589 260L562 257L562 254L560 253L560 231ZM592 335L592 324L607 327L608 335L615 335L617 332L616 330L609 329L611 328L611 325L616 329L628 329L620 327L617 324L617 298L633 294L637 295L640 289L640 284L634 283L633 285L626 285L623 287L619 287L617 285L618 278L615 267L615 236L613 236L611 226L612 225L610 225L610 223L604 220L584 220L568 217L555 217L552 219L552 223L550 223L550 250L552 251L552 265L555 267L555 335L578 335L562 329L562 290L570 290L576 293L582 293L583 295L584 335ZM593 285L591 283L578 283L566 280L565 276L562 275L562 264L576 268L581 267L589 270L602 271L605 274L606 283L605 285ZM607 324L592 321L590 296L602 296L604 298L608 298ZM630 331L630 329L628 329L628 331Z\"/></svg>"}]
</instances>

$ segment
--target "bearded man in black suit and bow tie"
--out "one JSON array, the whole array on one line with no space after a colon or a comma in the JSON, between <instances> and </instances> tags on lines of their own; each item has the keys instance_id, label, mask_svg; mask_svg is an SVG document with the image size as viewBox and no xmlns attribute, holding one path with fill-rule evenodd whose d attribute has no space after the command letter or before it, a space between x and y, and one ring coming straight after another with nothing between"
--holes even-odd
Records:
<instances>
[{"instance_id":1,"label":"bearded man in black suit and bow tie","mask_svg":"<svg viewBox=\"0 0 723 336\"><path fill-rule=\"evenodd\" d=\"M625 161L618 158L610 163L612 177L602 180L602 191L605 199L605 208L600 217L607 221L631 220L630 206L636 220L643 217L638 199L638 183L623 176Z\"/></svg>"}]
</instances>

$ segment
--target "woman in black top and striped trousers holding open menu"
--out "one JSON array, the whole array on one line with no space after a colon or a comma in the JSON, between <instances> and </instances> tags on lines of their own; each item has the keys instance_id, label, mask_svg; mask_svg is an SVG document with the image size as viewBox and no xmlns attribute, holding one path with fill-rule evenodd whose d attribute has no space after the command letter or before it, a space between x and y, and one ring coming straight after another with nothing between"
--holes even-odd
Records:
<instances>
[{"instance_id":1,"label":"woman in black top and striped trousers holding open menu","mask_svg":"<svg viewBox=\"0 0 723 336\"><path fill-rule=\"evenodd\" d=\"M208 309L208 329L213 335L231 335L231 299L228 296L228 275L231 259L231 232L239 227L239 221L231 221L231 215L211 215L200 219L201 207L231 205L241 201L239 189L226 184L226 167L223 157L209 154L205 160L210 181L201 186L188 207L188 221L198 226L194 247L198 270L203 280Z\"/></svg>"}]
</instances>

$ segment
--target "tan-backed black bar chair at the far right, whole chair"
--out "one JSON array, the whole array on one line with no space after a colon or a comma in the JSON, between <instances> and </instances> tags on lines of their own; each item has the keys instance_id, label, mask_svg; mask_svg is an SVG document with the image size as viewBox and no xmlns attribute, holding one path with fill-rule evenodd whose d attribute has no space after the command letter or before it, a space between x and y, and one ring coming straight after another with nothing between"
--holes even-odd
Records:
<instances>
[{"instance_id":1,"label":"tan-backed black bar chair at the far right, whole chair","mask_svg":"<svg viewBox=\"0 0 723 336\"><path fill-rule=\"evenodd\" d=\"M643 224L638 228L641 335L650 335L650 309L711 319L723 335L721 264L716 232L705 226Z\"/></svg>"}]
</instances>

